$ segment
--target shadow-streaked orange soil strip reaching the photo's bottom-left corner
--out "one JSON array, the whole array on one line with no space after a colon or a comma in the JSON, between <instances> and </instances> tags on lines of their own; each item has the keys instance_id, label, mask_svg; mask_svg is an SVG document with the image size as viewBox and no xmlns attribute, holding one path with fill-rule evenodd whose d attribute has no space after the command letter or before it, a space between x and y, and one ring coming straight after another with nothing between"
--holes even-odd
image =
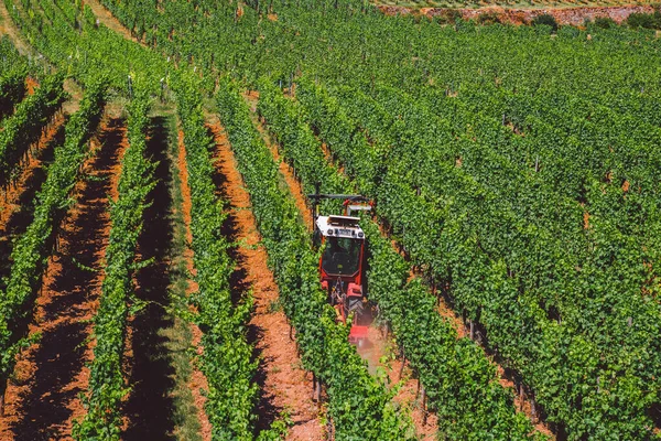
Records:
<instances>
[{"instance_id":1,"label":"shadow-streaked orange soil strip reaching the photo's bottom-left corner","mask_svg":"<svg viewBox=\"0 0 661 441\"><path fill-rule=\"evenodd\" d=\"M108 243L109 196L117 197L120 158L127 147L126 125L112 118L93 141L98 153L87 161L89 179L75 189L77 203L58 233L56 252L47 262L36 299L32 335L42 335L20 355L7 394L2 440L71 439L73 420L84 413L78 395L85 390L93 356L88 322L98 306L105 248Z\"/></svg>"}]
</instances>

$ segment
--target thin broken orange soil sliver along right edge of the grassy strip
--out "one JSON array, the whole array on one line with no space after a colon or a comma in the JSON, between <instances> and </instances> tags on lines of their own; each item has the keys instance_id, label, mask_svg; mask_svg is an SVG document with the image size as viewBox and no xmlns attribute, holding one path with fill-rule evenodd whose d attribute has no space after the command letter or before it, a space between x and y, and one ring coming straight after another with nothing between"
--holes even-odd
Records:
<instances>
[{"instance_id":1,"label":"thin broken orange soil sliver along right edge of the grassy strip","mask_svg":"<svg viewBox=\"0 0 661 441\"><path fill-rule=\"evenodd\" d=\"M178 157L177 157L177 166L180 172L180 181L182 183L182 196L183 196L183 216L184 223L186 225L186 243L191 244L193 241L193 234L191 232L191 187L188 186L188 169L186 165L186 147L184 146L184 132L182 130L178 131ZM193 276L197 273L195 270L195 266L193 265L193 249L188 246L184 251L184 258L186 259L186 268L188 272ZM192 294L197 291L198 286L194 280L188 280L188 288L186 290L187 294ZM202 331L199 327L191 323L191 331L193 333L193 347L195 347L197 355L202 355L204 348L202 346ZM207 391L209 389L207 379L204 374L198 369L194 368L191 375L189 388L193 394L193 400L195 402L195 408L197 410L197 419L202 426L202 439L204 441L209 441L212 439L212 424L209 419L204 411L204 406L206 404L206 397L203 395L203 390Z\"/></svg>"}]
</instances>

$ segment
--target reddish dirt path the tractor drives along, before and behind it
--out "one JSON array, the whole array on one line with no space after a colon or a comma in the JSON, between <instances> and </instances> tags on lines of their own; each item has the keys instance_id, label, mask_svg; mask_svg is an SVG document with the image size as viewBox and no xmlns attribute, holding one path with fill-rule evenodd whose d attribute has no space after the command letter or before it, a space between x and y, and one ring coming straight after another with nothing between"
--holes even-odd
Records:
<instances>
[{"instance_id":1,"label":"reddish dirt path the tractor drives along, before and behind it","mask_svg":"<svg viewBox=\"0 0 661 441\"><path fill-rule=\"evenodd\" d=\"M280 158L278 151L278 143L271 138L268 129L259 120L257 116L257 100L259 95L256 92L250 92L245 95L250 109L252 111L253 123L258 131L262 136L266 144L271 150L273 158L279 162L280 173L283 176L290 193L294 197L296 207L303 216L305 225L308 229L312 228L312 214L307 204L305 203L305 196L301 182L294 176L293 170ZM434 440L437 432L436 416L429 413L425 416L422 406L418 400L416 394L416 381L412 378L412 372L407 367L402 372L400 378L400 363L397 362L397 354L394 354L394 344L390 336L381 332L381 330L372 323L368 329L368 337L364 344L357 348L358 354L368 364L368 370L371 375L379 377L388 377L391 385L395 385L401 381L401 387L394 397L394 401L404 408L410 410L411 418L415 424L415 431L421 440Z\"/></svg>"}]
</instances>

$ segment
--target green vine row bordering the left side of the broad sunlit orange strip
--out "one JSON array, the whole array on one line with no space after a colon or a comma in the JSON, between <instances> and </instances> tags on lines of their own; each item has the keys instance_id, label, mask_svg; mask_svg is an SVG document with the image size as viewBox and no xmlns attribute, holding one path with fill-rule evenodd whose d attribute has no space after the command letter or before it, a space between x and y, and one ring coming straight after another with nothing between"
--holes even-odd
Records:
<instances>
[{"instance_id":1,"label":"green vine row bordering the left side of the broad sunlit orange strip","mask_svg":"<svg viewBox=\"0 0 661 441\"><path fill-rule=\"evenodd\" d=\"M204 123L197 83L182 76L175 86L192 198L192 247L198 284L192 302L203 331L201 368L209 388L206 413L214 439L252 440L258 363L252 359L253 348L246 336L252 299L248 297L238 305L232 304L229 277L234 262L227 252L230 245L223 235L226 219L223 201L216 197L213 180L210 150L215 143Z\"/></svg>"}]
</instances>

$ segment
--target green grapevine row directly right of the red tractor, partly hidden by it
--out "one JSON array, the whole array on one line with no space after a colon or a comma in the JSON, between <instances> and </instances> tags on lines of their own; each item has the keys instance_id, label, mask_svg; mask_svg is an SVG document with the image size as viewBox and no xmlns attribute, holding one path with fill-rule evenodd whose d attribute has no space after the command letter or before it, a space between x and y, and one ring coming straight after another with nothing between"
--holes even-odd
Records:
<instances>
[{"instance_id":1,"label":"green grapevine row directly right of the red tractor, partly hidden by it","mask_svg":"<svg viewBox=\"0 0 661 441\"><path fill-rule=\"evenodd\" d=\"M305 189L314 189L318 180L325 193L351 192L346 180L333 178L337 172L326 162L319 142L301 116L301 107L268 80L260 83L258 110ZM351 142L350 138L345 140ZM457 338L456 331L436 311L435 297L420 279L407 283L410 266L377 224L364 222L364 228L371 254L369 295L418 370L430 404L438 413L441 433L456 440L531 438L532 426L522 413L516 413L511 392L500 386L496 368L481 348L468 338Z\"/></svg>"}]
</instances>

